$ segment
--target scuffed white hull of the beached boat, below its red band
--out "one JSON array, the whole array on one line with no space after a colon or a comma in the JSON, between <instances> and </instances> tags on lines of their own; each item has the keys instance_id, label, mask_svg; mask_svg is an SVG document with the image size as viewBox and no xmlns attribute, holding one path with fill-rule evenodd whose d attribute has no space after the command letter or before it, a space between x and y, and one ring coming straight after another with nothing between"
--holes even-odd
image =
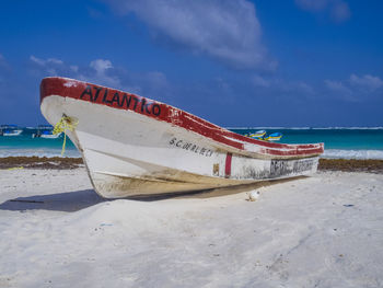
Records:
<instances>
[{"instance_id":1,"label":"scuffed white hull of the beached boat, below its red band","mask_svg":"<svg viewBox=\"0 0 383 288\"><path fill-rule=\"evenodd\" d=\"M130 110L53 94L40 108L51 125L62 115L78 120L67 134L96 193L106 198L309 175L317 168L317 153L270 157L256 147L240 150Z\"/></svg>"}]
</instances>

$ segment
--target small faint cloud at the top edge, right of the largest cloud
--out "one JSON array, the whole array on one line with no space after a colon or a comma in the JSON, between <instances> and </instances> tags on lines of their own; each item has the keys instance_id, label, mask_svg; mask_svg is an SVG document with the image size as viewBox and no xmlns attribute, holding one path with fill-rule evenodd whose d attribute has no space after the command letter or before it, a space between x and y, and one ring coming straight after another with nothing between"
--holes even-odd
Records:
<instances>
[{"instance_id":1,"label":"small faint cloud at the top edge, right of the largest cloud","mask_svg":"<svg viewBox=\"0 0 383 288\"><path fill-rule=\"evenodd\" d=\"M299 8L313 12L328 12L336 22L347 21L351 16L350 7L344 0L295 0Z\"/></svg>"}]
</instances>

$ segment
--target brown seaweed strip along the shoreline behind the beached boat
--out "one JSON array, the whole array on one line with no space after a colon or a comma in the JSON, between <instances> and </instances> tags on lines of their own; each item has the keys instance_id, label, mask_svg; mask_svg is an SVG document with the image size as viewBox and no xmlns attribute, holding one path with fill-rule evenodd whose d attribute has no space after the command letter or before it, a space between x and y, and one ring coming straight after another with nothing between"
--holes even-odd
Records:
<instances>
[{"instance_id":1,"label":"brown seaweed strip along the shoreline behind the beached boat","mask_svg":"<svg viewBox=\"0 0 383 288\"><path fill-rule=\"evenodd\" d=\"M5 157L0 158L0 170L56 169L71 170L84 166L82 158ZM320 159L318 171L367 172L383 174L383 160L378 159Z\"/></svg>"}]
</instances>

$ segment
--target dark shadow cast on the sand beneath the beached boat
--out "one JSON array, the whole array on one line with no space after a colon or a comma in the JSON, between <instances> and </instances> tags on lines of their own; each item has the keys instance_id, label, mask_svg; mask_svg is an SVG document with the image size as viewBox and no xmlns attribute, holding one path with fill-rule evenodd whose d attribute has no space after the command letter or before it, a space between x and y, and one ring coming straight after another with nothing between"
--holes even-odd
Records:
<instances>
[{"instance_id":1,"label":"dark shadow cast on the sand beneath the beached boat","mask_svg":"<svg viewBox=\"0 0 383 288\"><path fill-rule=\"evenodd\" d=\"M213 197L221 197L227 195L249 192L253 189L270 186L274 184L290 182L297 178L304 178L304 176L287 178L287 180L265 181L259 183L243 184L237 186L211 188L211 189L204 189L204 191L169 193L169 194L160 194L160 195L138 195L138 196L126 197L123 199L136 200L136 201L160 201L160 200L166 200L166 199L213 198ZM93 189L84 189L84 191L66 192L66 193L57 193L57 194L18 197L0 204L0 210L12 210L12 211L54 210L54 211L74 212L74 211L79 211L88 207L97 205L100 203L114 201L114 200L116 199L102 198Z\"/></svg>"}]
</instances>

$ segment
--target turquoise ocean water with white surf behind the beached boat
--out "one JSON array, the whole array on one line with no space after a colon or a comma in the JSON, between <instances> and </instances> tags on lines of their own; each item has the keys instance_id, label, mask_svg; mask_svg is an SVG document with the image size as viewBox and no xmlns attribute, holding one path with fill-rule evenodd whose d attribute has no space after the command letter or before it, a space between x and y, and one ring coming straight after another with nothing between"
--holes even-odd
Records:
<instances>
[{"instance_id":1,"label":"turquoise ocean water with white surf behind the beached boat","mask_svg":"<svg viewBox=\"0 0 383 288\"><path fill-rule=\"evenodd\" d=\"M315 143L324 142L323 158L334 159L383 159L383 127L373 128L285 128L253 127L229 128L237 134L264 129L267 134L279 131L283 135L278 142ZM36 128L23 128L20 136L0 136L0 158L10 155L60 157L63 138L32 138ZM80 157L74 145L67 138L65 157Z\"/></svg>"}]
</instances>

